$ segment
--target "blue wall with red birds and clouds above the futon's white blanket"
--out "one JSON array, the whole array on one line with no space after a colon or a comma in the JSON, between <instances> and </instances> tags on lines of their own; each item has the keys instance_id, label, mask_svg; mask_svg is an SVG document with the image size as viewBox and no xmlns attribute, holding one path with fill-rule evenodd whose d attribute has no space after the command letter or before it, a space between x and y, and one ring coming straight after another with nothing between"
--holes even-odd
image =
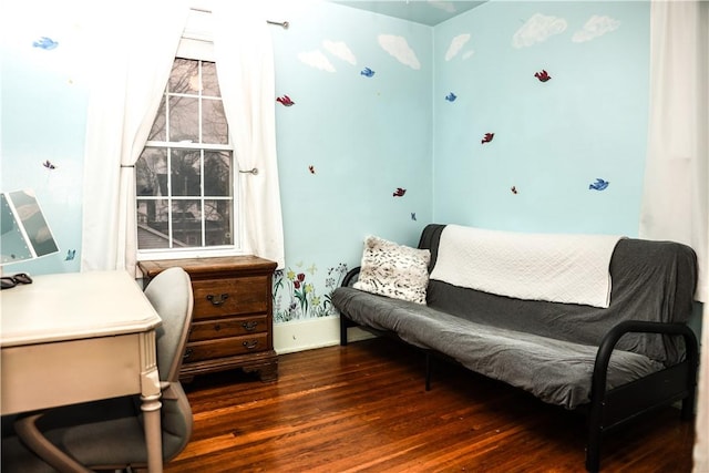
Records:
<instances>
[{"instance_id":1,"label":"blue wall with red birds and clouds above the futon's white blanket","mask_svg":"<svg viewBox=\"0 0 709 473\"><path fill-rule=\"evenodd\" d=\"M436 220L637 235L649 3L491 1L438 25L433 55Z\"/></svg>"}]
</instances>

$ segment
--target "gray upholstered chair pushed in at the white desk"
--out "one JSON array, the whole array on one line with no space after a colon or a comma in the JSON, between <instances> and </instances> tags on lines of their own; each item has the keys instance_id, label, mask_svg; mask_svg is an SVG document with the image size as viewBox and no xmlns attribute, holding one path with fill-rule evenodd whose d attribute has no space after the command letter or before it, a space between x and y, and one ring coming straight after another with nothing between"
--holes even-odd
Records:
<instances>
[{"instance_id":1,"label":"gray upholstered chair pushed in at the white desk","mask_svg":"<svg viewBox=\"0 0 709 473\"><path fill-rule=\"evenodd\" d=\"M163 320L156 333L157 368L163 391L163 461L168 462L192 434L192 410L178 379L192 320L189 276L182 268L166 269L153 278L145 296ZM60 472L143 469L147 450L140 405L140 397L125 397L21 415L14 431L30 452L14 453L11 460L27 462L39 456ZM12 472L6 467L12 465L3 461L2 471ZM43 470L30 464L17 471Z\"/></svg>"}]
</instances>

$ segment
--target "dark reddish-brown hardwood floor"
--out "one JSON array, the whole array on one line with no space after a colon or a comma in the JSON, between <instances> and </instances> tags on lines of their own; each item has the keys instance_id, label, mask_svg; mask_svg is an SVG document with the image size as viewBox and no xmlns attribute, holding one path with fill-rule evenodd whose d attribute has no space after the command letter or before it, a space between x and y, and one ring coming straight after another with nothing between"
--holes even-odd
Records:
<instances>
[{"instance_id":1,"label":"dark reddish-brown hardwood floor","mask_svg":"<svg viewBox=\"0 0 709 473\"><path fill-rule=\"evenodd\" d=\"M583 472L585 418L386 339L185 384L194 432L169 472ZM693 422L656 412L604 443L607 472L691 472Z\"/></svg>"}]
</instances>

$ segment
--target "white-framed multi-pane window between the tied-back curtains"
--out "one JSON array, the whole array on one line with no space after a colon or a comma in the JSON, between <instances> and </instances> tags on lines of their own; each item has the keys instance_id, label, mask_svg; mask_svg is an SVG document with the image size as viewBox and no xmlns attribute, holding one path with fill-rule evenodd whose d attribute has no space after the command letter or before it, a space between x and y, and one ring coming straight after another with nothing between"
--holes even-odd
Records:
<instances>
[{"instance_id":1,"label":"white-framed multi-pane window between the tied-back curtains","mask_svg":"<svg viewBox=\"0 0 709 473\"><path fill-rule=\"evenodd\" d=\"M238 250L236 166L214 62L175 59L135 167L140 255Z\"/></svg>"}]
</instances>

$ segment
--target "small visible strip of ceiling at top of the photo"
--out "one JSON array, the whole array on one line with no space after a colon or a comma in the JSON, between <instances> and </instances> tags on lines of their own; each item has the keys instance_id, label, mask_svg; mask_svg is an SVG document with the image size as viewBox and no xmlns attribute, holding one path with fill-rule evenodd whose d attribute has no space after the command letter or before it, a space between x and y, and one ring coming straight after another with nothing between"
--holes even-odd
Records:
<instances>
[{"instance_id":1,"label":"small visible strip of ceiling at top of the photo","mask_svg":"<svg viewBox=\"0 0 709 473\"><path fill-rule=\"evenodd\" d=\"M473 9L485 1L439 1L439 0L381 0L340 1L330 0L360 10L372 11L415 23L434 27L445 20Z\"/></svg>"}]
</instances>

